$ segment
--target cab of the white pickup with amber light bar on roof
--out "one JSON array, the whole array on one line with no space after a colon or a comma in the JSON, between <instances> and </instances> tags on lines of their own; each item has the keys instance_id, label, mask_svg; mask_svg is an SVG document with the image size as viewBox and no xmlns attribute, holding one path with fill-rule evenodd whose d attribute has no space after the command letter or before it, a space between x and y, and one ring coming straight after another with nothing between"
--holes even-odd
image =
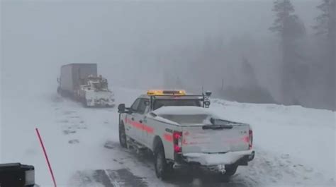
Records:
<instances>
[{"instance_id":1,"label":"cab of the white pickup with amber light bar on roof","mask_svg":"<svg viewBox=\"0 0 336 187\"><path fill-rule=\"evenodd\" d=\"M151 111L164 106L194 106L208 107L210 101L206 95L186 95L184 90L149 90L146 95L140 95L135 102L125 108L124 104L119 105L119 123L126 124L125 132L130 139L138 143L148 144L148 133L152 133L154 127L146 126L147 115ZM125 112L127 110L127 112ZM127 125L130 124L130 125ZM142 129L144 128L144 129Z\"/></svg>"}]
</instances>

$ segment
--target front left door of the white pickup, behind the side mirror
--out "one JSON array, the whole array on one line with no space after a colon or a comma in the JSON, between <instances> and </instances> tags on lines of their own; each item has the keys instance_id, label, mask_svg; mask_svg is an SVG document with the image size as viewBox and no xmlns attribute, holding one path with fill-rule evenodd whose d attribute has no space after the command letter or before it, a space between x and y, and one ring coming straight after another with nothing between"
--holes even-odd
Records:
<instances>
[{"instance_id":1,"label":"front left door of the white pickup, behind the side mirror","mask_svg":"<svg viewBox=\"0 0 336 187\"><path fill-rule=\"evenodd\" d=\"M140 131L137 129L136 123L135 123L135 116L136 116L136 111L138 109L140 103L140 98L136 99L135 102L133 102L132 106L130 107L132 114L126 114L126 119L125 119L125 131L126 134L130 136L130 138L133 138L137 140L136 138L136 132Z\"/></svg>"}]
</instances>

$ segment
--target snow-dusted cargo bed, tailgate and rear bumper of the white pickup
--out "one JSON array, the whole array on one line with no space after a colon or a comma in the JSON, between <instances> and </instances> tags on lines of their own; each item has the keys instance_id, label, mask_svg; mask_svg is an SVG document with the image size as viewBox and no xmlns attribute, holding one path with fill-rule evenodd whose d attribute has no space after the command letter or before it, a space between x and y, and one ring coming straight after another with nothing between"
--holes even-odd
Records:
<instances>
[{"instance_id":1,"label":"snow-dusted cargo bed, tailgate and rear bumper of the white pickup","mask_svg":"<svg viewBox=\"0 0 336 187\"><path fill-rule=\"evenodd\" d=\"M170 123L181 129L181 159L184 164L202 166L235 164L246 157L253 159L252 131L245 123L216 120L208 109L200 107L162 107L153 111L162 123ZM162 120L164 119L164 120Z\"/></svg>"}]
</instances>

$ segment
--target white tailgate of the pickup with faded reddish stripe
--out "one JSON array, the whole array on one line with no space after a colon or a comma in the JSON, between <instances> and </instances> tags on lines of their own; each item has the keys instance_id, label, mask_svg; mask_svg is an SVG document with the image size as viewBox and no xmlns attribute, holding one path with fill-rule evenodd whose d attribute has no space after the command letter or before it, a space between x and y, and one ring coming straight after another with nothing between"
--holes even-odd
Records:
<instances>
[{"instance_id":1,"label":"white tailgate of the pickup with faded reddish stripe","mask_svg":"<svg viewBox=\"0 0 336 187\"><path fill-rule=\"evenodd\" d=\"M243 123L224 127L183 126L182 154L249 150L249 130L249 125Z\"/></svg>"}]
</instances>

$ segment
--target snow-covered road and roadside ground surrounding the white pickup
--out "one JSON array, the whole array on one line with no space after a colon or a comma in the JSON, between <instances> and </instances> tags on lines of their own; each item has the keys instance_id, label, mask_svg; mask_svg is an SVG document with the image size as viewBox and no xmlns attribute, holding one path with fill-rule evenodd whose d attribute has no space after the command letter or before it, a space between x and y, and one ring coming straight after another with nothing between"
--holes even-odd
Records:
<instances>
[{"instance_id":1,"label":"snow-covered road and roadside ground surrounding the white pickup","mask_svg":"<svg viewBox=\"0 0 336 187\"><path fill-rule=\"evenodd\" d=\"M131 104L141 90L114 88L118 103ZM35 166L40 186L52 186L35 135L40 129L58 186L335 186L335 112L275 104L213 99L211 109L250 123L257 155L230 182L215 176L191 179L178 172L155 176L150 155L118 145L116 109L83 108L54 92L2 97L1 162Z\"/></svg>"}]
</instances>

